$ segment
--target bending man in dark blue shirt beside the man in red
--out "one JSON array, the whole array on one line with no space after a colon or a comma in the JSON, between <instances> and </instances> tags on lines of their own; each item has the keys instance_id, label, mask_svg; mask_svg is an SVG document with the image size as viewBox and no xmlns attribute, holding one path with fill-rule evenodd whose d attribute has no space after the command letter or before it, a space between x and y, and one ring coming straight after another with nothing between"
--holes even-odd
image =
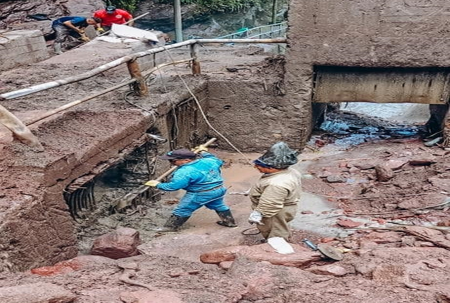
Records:
<instances>
[{"instance_id":1,"label":"bending man in dark blue shirt beside the man in red","mask_svg":"<svg viewBox=\"0 0 450 303\"><path fill-rule=\"evenodd\" d=\"M54 20L51 27L56 33L55 43L53 44L55 53L63 53L61 49L62 44L70 37L76 39L86 39L84 29L89 25L96 26L99 22L101 22L101 19L99 18L84 18L77 16L61 17Z\"/></svg>"}]
</instances>

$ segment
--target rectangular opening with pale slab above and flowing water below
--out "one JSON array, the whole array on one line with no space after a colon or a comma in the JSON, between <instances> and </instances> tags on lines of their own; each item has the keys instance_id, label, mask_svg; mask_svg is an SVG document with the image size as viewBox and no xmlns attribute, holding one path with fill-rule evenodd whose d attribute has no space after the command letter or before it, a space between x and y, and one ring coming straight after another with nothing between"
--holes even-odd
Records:
<instances>
[{"instance_id":1,"label":"rectangular opening with pale slab above and flowing water below","mask_svg":"<svg viewBox=\"0 0 450 303\"><path fill-rule=\"evenodd\" d=\"M444 140L448 68L315 66L313 121L322 144ZM317 134L316 134L317 135Z\"/></svg>"}]
</instances>

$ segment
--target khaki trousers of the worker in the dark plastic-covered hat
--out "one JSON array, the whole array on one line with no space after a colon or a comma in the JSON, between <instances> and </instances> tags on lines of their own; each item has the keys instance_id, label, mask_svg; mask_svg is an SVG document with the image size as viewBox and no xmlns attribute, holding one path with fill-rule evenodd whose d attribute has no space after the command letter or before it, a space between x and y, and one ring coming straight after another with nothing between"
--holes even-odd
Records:
<instances>
[{"instance_id":1,"label":"khaki trousers of the worker in the dark plastic-covered hat","mask_svg":"<svg viewBox=\"0 0 450 303\"><path fill-rule=\"evenodd\" d=\"M258 230L261 232L264 238L281 237L286 241L291 238L291 228L289 227L289 222L293 220L297 212L297 205L286 205L281 211L275 216L270 218L263 217L261 220L264 225L256 225Z\"/></svg>"}]
</instances>

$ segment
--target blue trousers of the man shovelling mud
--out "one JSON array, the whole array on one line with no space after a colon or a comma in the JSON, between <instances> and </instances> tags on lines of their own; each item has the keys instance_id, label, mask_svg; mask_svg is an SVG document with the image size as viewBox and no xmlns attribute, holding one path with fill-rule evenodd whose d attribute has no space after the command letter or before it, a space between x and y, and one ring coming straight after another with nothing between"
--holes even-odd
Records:
<instances>
[{"instance_id":1,"label":"blue trousers of the man shovelling mud","mask_svg":"<svg viewBox=\"0 0 450 303\"><path fill-rule=\"evenodd\" d=\"M224 187L207 192L186 192L172 214L175 216L188 217L202 206L213 211L227 211L230 208L224 203L225 192L226 189Z\"/></svg>"}]
</instances>

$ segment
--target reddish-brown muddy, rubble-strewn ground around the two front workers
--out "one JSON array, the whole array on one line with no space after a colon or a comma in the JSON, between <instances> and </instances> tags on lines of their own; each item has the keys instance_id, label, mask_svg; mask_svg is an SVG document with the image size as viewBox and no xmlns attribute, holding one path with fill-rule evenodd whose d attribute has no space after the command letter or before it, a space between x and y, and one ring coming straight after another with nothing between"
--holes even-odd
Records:
<instances>
[{"instance_id":1,"label":"reddish-brown muddy, rubble-strewn ground around the two front workers","mask_svg":"<svg viewBox=\"0 0 450 303\"><path fill-rule=\"evenodd\" d=\"M374 228L397 226L386 221L419 226L437 226L439 222L448 221L448 205L438 209L416 209L442 204L448 197L449 152L424 148L418 140L405 141L379 141L347 151L328 147L321 151L305 150L301 154L304 161L299 164L305 174L303 188L308 193L325 195L323 199L327 200L330 209L317 214L314 207L305 207L307 203L304 201L297 218L320 221L323 215L334 215L334 219L365 222L359 227ZM0 286L46 281L62 285L76 294L74 302L77 303L449 302L450 254L444 247L450 248L450 235L431 229L428 239L438 239L434 242L402 231L383 229L347 231L347 237L338 232L336 237L324 237L317 226L311 230L295 231L293 242L299 243L308 237L316 242L330 241L335 247L349 248L344 260L316 264L333 263L344 268L346 274L339 277L314 274L308 268L245 259L236 260L228 271L201 263L199 255L205 251L228 245L255 245L261 239L259 235L242 235L250 227L246 222L249 201L245 195L234 194L248 190L258 178L257 171L247 164L248 159L239 154L223 151L217 151L217 154L226 161L226 201L233 209L239 227L218 226L214 223L216 215L202 209L179 233L163 236L152 233L150 228L164 221L180 194L163 195L161 201L144 205L141 212L105 217L83 231L81 254L89 251L95 236L126 226L139 230L143 242L141 249L148 255L90 262L80 270L53 277L29 273L3 274ZM256 156L246 154L249 159ZM394 170L394 176L388 181L376 181L374 169L352 169L354 165L367 168L388 160L405 161L402 168ZM432 163L411 165L408 162L411 160L417 161L413 163L419 163L418 160L422 160L422 164L425 160ZM330 183L325 177L330 173L351 179L351 182ZM359 182L354 182L354 179ZM399 197L402 195L409 196ZM336 225L336 221L323 221L327 222L323 225L324 230L329 227L325 226L327 224L336 230L344 230ZM151 284L158 290L149 291L119 281L121 269L116 265L118 261L137 263L139 270L133 279Z\"/></svg>"}]
</instances>

